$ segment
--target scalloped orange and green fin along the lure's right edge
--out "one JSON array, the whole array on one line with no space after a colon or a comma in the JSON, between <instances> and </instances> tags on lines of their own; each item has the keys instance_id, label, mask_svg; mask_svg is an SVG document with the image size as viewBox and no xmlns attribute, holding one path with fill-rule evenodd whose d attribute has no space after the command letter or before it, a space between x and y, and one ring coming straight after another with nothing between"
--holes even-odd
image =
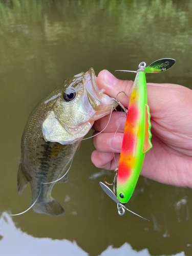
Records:
<instances>
[{"instance_id":1,"label":"scalloped orange and green fin along the lure's right edge","mask_svg":"<svg viewBox=\"0 0 192 256\"><path fill-rule=\"evenodd\" d=\"M145 140L144 140L144 148L143 148L143 154L145 154L147 151L151 150L152 143L151 143L151 122L150 122L150 107L148 105L145 105Z\"/></svg>"}]
</instances>

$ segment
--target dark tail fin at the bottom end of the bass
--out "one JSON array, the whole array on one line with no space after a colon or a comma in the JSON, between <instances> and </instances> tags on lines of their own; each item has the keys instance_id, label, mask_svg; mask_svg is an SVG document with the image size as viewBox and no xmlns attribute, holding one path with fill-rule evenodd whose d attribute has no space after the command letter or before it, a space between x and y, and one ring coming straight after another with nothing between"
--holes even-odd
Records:
<instances>
[{"instance_id":1,"label":"dark tail fin at the bottom end of the bass","mask_svg":"<svg viewBox=\"0 0 192 256\"><path fill-rule=\"evenodd\" d=\"M48 203L38 203L34 204L33 210L37 214L47 214L52 216L58 216L64 214L65 210L55 199L51 198L51 201Z\"/></svg>"}]
</instances>

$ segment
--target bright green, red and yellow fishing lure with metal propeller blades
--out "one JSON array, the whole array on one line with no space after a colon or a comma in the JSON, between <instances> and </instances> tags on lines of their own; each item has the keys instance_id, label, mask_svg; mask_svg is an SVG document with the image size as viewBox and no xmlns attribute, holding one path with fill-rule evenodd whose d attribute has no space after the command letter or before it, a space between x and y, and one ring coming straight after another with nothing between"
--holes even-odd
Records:
<instances>
[{"instance_id":1,"label":"bright green, red and yellow fishing lure with metal propeller blades","mask_svg":"<svg viewBox=\"0 0 192 256\"><path fill-rule=\"evenodd\" d=\"M126 113L126 122L119 166L115 169L113 182L114 193L102 182L99 182L99 184L105 193L117 203L120 216L124 215L125 209L129 210L124 204L130 200L133 194L143 165L145 153L152 148L150 109L147 105L145 73L160 73L166 71L171 68L175 62L175 59L166 58L156 60L148 67L146 67L145 62L141 62L137 71L116 70L117 72L136 73L136 77L130 97L129 108L128 110L123 108ZM117 96L116 101L122 106ZM135 212L131 212L135 214ZM140 215L137 216L143 218Z\"/></svg>"}]
</instances>

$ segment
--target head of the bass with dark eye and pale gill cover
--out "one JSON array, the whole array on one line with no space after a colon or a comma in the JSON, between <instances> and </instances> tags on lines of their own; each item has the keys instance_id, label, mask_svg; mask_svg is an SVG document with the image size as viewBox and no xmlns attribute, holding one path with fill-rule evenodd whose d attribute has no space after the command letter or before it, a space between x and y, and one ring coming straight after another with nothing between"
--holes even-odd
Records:
<instances>
[{"instance_id":1,"label":"head of the bass with dark eye and pale gill cover","mask_svg":"<svg viewBox=\"0 0 192 256\"><path fill-rule=\"evenodd\" d=\"M93 68L67 78L51 95L42 123L46 141L72 144L82 139L95 120L111 113L117 103L99 90Z\"/></svg>"}]
</instances>

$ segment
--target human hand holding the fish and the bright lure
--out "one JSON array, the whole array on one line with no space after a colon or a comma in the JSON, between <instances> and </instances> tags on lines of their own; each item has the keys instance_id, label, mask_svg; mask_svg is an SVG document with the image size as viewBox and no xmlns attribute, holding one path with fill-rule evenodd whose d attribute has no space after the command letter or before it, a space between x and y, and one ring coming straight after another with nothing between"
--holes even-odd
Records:
<instances>
[{"instance_id":1,"label":"human hand holding the fish and the bright lure","mask_svg":"<svg viewBox=\"0 0 192 256\"><path fill-rule=\"evenodd\" d=\"M133 81L118 80L106 70L99 73L97 83L111 97L116 98L120 91L131 96ZM192 90L178 84L147 83L147 96L153 147L145 154L141 175L165 184L192 188ZM129 98L123 93L118 95L118 100L128 108ZM109 116L105 116L95 121L93 129L102 131L108 120ZM114 111L106 129L93 137L95 166L111 170L117 167L125 120L124 113Z\"/></svg>"}]
</instances>

